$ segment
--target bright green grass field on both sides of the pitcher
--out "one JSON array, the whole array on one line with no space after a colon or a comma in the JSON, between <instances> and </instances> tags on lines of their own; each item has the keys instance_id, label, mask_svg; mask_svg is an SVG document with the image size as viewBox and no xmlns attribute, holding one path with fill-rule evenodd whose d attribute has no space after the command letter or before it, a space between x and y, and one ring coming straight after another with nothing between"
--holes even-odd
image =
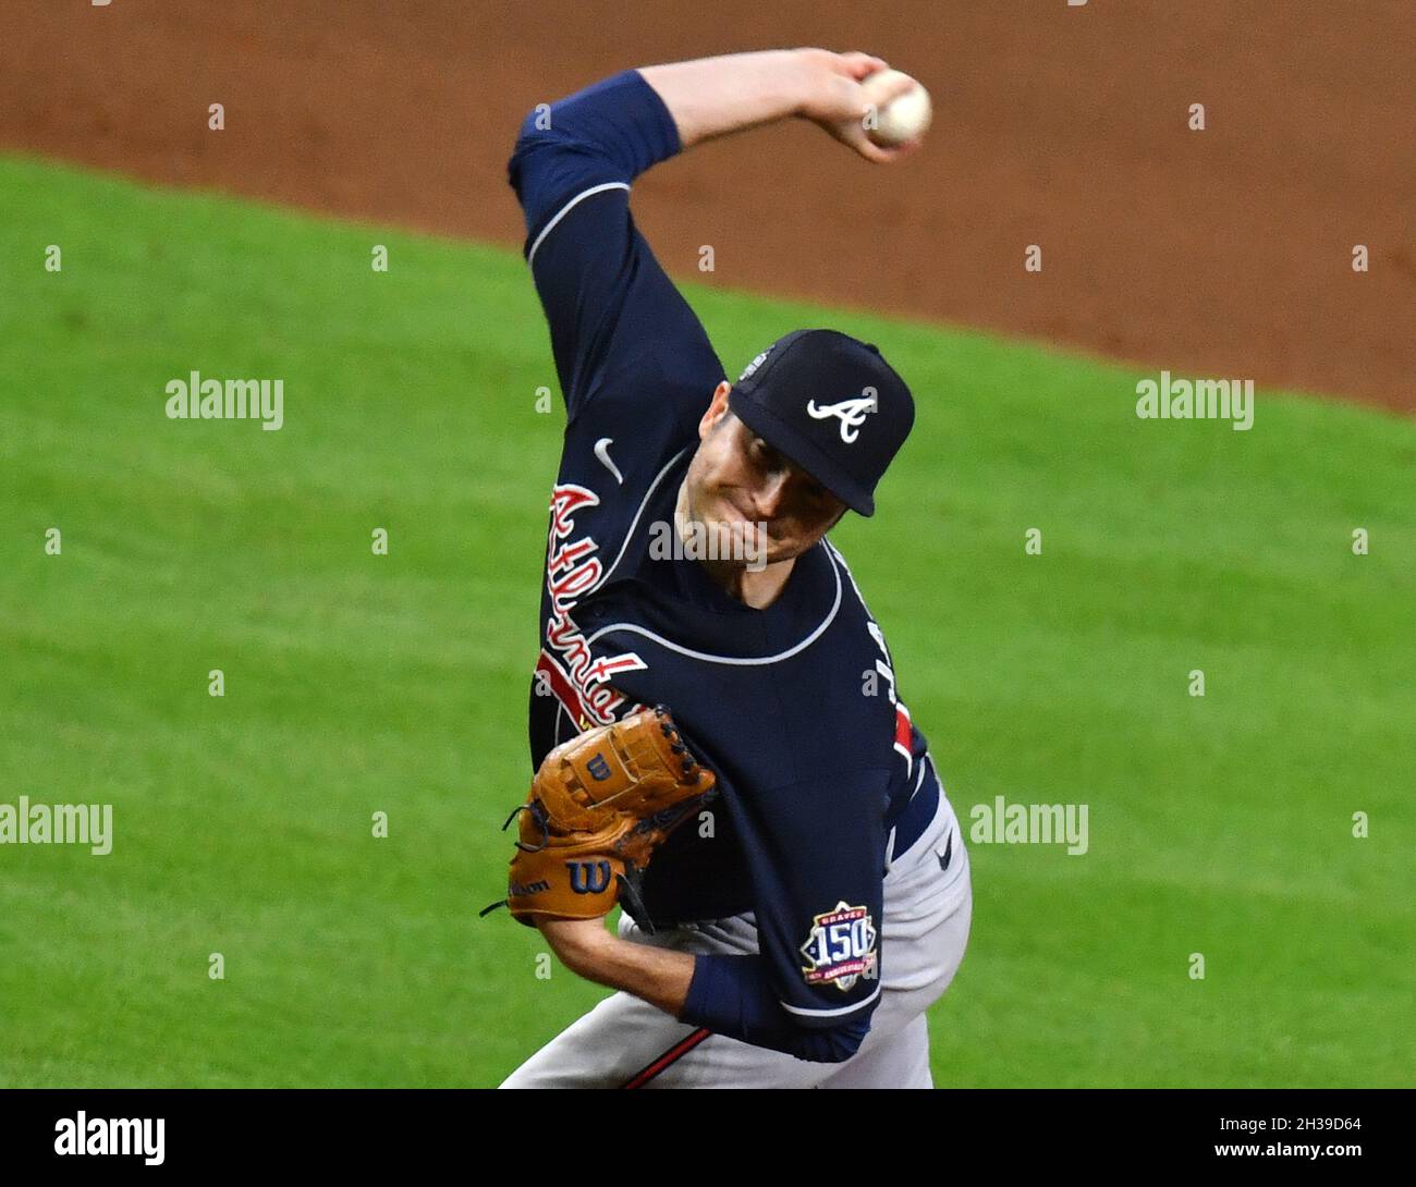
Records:
<instances>
[{"instance_id":1,"label":"bright green grass field on both sides of the pitcher","mask_svg":"<svg viewBox=\"0 0 1416 1187\"><path fill-rule=\"evenodd\" d=\"M1140 371L688 296L729 374L830 324L910 380L833 540L960 816L1089 805L1082 857L971 846L936 1082L1416 1084L1416 425L1138 421ZM283 378L283 429L167 419L193 370ZM115 830L0 846L0 1085L494 1085L605 994L477 918L528 778L541 385L515 252L0 161L0 803Z\"/></svg>"}]
</instances>

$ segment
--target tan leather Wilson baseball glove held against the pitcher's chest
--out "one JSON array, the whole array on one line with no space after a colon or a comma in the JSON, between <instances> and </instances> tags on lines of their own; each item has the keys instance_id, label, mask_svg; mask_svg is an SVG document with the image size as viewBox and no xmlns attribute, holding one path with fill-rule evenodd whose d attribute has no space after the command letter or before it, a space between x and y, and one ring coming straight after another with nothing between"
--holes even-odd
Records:
<instances>
[{"instance_id":1,"label":"tan leather Wilson baseball glove held against the pitcher's chest","mask_svg":"<svg viewBox=\"0 0 1416 1187\"><path fill-rule=\"evenodd\" d=\"M606 915L622 890L637 898L654 848L716 795L715 783L663 705L562 742L501 826L521 817L507 898L481 914L504 902L534 928L537 916Z\"/></svg>"}]
</instances>

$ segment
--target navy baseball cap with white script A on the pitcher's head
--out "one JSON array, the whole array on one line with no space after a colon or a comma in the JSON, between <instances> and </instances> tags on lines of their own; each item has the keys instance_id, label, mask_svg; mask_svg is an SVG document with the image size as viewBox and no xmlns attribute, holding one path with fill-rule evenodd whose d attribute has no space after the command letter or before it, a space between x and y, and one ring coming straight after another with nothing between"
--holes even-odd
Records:
<instances>
[{"instance_id":1,"label":"navy baseball cap with white script A on the pitcher's head","mask_svg":"<svg viewBox=\"0 0 1416 1187\"><path fill-rule=\"evenodd\" d=\"M875 514L875 484L915 424L915 399L872 343L793 330L748 364L732 414L852 511Z\"/></svg>"}]
</instances>

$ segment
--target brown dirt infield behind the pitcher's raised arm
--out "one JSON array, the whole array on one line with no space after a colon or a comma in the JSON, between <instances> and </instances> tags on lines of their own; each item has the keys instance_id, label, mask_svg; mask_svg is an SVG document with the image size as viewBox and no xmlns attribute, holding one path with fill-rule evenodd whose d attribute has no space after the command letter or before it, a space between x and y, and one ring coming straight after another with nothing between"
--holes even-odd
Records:
<instances>
[{"instance_id":1,"label":"brown dirt infield behind the pitcher's raised arm","mask_svg":"<svg viewBox=\"0 0 1416 1187\"><path fill-rule=\"evenodd\" d=\"M671 273L1416 409L1409 0L7 0L4 24L3 147L507 244L534 103L865 48L933 92L927 152L878 169L799 123L702 146L636 187Z\"/></svg>"}]
</instances>

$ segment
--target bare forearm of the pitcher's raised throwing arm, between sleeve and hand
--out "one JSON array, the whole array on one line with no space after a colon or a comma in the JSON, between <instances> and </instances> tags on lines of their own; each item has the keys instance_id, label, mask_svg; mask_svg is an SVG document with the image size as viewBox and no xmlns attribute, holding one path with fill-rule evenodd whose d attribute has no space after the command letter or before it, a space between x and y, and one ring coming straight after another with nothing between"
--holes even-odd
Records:
<instances>
[{"instance_id":1,"label":"bare forearm of the pitcher's raised throwing arm, between sleeve and hand","mask_svg":"<svg viewBox=\"0 0 1416 1187\"><path fill-rule=\"evenodd\" d=\"M821 85L820 68L800 50L725 54L639 72L664 101L685 149L800 115Z\"/></svg>"}]
</instances>

